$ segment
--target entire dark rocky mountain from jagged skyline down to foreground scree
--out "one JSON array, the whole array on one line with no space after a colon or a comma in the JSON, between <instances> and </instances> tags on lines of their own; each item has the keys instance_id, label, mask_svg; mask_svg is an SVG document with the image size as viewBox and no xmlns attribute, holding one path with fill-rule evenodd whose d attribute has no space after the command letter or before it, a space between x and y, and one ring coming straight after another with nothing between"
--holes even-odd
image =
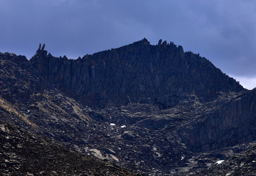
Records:
<instances>
[{"instance_id":1,"label":"entire dark rocky mountain from jagged skyline down to foreground scree","mask_svg":"<svg viewBox=\"0 0 256 176\"><path fill-rule=\"evenodd\" d=\"M3 176L256 175L256 89L173 42L0 53L0 89Z\"/></svg>"}]
</instances>

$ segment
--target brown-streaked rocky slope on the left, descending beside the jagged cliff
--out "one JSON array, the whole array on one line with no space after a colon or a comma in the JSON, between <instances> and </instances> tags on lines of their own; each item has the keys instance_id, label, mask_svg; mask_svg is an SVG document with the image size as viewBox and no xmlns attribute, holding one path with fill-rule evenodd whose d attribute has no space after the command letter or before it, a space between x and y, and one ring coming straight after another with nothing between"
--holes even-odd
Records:
<instances>
[{"instance_id":1,"label":"brown-streaked rocky slope on the left, descending beside the jagged cliff","mask_svg":"<svg viewBox=\"0 0 256 176\"><path fill-rule=\"evenodd\" d=\"M2 120L64 141L86 130L90 108L49 85L26 57L0 54L0 67ZM65 134L69 128L73 132Z\"/></svg>"}]
</instances>

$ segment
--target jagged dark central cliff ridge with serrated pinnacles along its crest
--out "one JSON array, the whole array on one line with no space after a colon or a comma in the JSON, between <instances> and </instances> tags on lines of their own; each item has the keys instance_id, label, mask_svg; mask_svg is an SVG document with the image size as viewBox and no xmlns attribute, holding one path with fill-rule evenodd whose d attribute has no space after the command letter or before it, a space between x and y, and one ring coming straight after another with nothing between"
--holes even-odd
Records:
<instances>
[{"instance_id":1,"label":"jagged dark central cliff ridge with serrated pinnacles along its crest","mask_svg":"<svg viewBox=\"0 0 256 176\"><path fill-rule=\"evenodd\" d=\"M210 101L221 91L244 89L199 54L162 40L151 45L143 39L77 60L38 49L30 63L56 88L97 107L140 102L166 108L188 94Z\"/></svg>"}]
</instances>

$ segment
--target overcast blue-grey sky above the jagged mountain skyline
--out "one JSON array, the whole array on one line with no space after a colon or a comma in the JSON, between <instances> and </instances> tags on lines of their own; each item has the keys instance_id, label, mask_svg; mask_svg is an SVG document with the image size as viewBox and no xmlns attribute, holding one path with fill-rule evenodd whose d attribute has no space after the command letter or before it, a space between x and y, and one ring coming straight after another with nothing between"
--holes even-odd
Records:
<instances>
[{"instance_id":1,"label":"overcast blue-grey sky above the jagged mountain skyline","mask_svg":"<svg viewBox=\"0 0 256 176\"><path fill-rule=\"evenodd\" d=\"M0 52L77 59L147 38L200 53L256 87L255 0L0 0Z\"/></svg>"}]
</instances>

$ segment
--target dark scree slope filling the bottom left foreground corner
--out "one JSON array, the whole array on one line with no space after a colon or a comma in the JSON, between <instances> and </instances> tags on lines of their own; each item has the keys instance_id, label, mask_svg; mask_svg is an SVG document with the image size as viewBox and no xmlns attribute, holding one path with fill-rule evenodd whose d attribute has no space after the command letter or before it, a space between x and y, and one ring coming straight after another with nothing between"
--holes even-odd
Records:
<instances>
[{"instance_id":1,"label":"dark scree slope filling the bottom left foreground corner","mask_svg":"<svg viewBox=\"0 0 256 176\"><path fill-rule=\"evenodd\" d=\"M70 151L45 137L0 121L0 173L4 176L145 176Z\"/></svg>"}]
</instances>

